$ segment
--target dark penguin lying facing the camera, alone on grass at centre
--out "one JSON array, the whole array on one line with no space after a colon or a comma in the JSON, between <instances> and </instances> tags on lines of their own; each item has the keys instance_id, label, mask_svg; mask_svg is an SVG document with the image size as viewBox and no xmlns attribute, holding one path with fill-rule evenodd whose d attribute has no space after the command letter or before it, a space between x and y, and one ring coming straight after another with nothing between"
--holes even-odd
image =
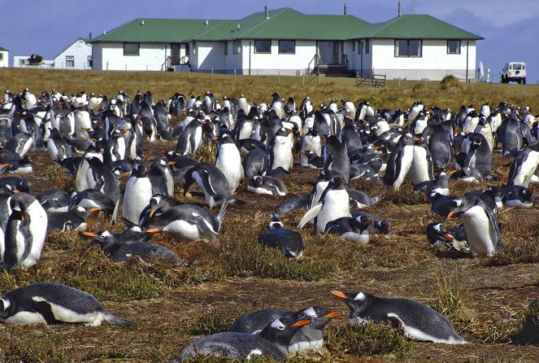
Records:
<instances>
[{"instance_id":1,"label":"dark penguin lying facing the camera, alone on grass at centre","mask_svg":"<svg viewBox=\"0 0 539 363\"><path fill-rule=\"evenodd\" d=\"M293 230L286 230L283 223L273 218L267 231L258 236L258 243L265 246L281 249L288 258L300 258L303 255L303 241L301 235Z\"/></svg>"}]
</instances>

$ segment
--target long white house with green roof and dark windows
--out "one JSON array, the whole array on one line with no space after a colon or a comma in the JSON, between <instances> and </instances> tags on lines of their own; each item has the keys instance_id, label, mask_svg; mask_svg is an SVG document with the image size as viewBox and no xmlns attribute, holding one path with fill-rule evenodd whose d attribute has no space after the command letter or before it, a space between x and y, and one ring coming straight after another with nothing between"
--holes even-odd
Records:
<instances>
[{"instance_id":1,"label":"long white house with green roof and dark windows","mask_svg":"<svg viewBox=\"0 0 539 363\"><path fill-rule=\"evenodd\" d=\"M135 19L91 40L94 70L237 74L386 74L387 78L474 78L483 39L430 15L371 24L352 15L291 8L240 20Z\"/></svg>"}]
</instances>

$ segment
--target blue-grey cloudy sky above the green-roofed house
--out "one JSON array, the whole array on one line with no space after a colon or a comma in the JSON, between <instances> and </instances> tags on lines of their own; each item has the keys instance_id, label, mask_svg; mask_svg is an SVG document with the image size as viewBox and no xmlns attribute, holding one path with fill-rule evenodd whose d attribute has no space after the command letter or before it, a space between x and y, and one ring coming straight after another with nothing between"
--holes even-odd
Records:
<instances>
[{"instance_id":1,"label":"blue-grey cloudy sky above the green-roofed house","mask_svg":"<svg viewBox=\"0 0 539 363\"><path fill-rule=\"evenodd\" d=\"M368 22L397 15L397 0L347 0L348 13ZM433 15L485 38L477 44L495 81L510 60L528 65L528 83L539 79L538 0L402 0L404 13ZM345 1L255 0L0 0L0 46L13 55L52 59L77 37L102 34L133 18L237 19L264 6L302 13L340 14ZM412 10L415 8L415 11ZM12 64L10 60L10 65Z\"/></svg>"}]
</instances>

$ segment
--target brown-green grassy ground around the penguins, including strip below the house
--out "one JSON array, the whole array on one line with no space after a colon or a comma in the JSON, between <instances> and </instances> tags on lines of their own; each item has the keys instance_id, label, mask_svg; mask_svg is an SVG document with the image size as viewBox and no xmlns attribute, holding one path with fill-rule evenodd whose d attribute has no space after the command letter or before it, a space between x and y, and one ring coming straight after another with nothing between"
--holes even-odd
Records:
<instances>
[{"instance_id":1,"label":"brown-green grassy ground around the penguins, including strip below the house","mask_svg":"<svg viewBox=\"0 0 539 363\"><path fill-rule=\"evenodd\" d=\"M211 74L155 72L62 72L51 70L0 69L0 92L34 93L42 89L73 93L114 95L119 90L133 95L151 90L166 99L175 92L185 95L211 90L217 98L244 93L255 103L270 102L277 91L300 103L305 95L313 102L331 98L354 102L370 100L378 108L409 107L421 99L425 105L458 110L462 104L477 107L484 101L497 105L505 100L520 106L539 107L539 86L460 84L441 90L438 82L390 81L387 89L357 88L354 79L295 77L247 77ZM158 156L175 143L145 143L145 152ZM30 152L34 162L32 194L53 187L71 190L73 183L54 166L46 152ZM494 153L495 176L500 185L507 179L511 159ZM0 275L0 291L36 281L56 281L92 293L113 314L135 322L133 329L107 324L99 328L80 325L11 326L0 324L2 362L164 362L178 355L195 337L224 329L239 315L265 307L300 309L321 305L348 310L330 294L333 289L363 290L380 296L413 298L442 312L467 340L468 345L439 345L411 342L388 326L354 327L347 319L336 319L326 328L326 348L291 362L372 362L408 360L436 361L533 361L539 355L538 312L528 308L538 297L539 208L504 209L500 215L506 249L494 258L472 259L441 253L430 248L425 227L434 220L455 225L430 213L425 197L413 194L406 183L399 192L388 192L368 210L390 220L392 233L373 237L368 246L358 246L329 235L302 230L305 256L288 261L278 251L258 246L270 214L291 197L307 194L318 171L295 165L285 180L291 192L286 197L267 197L246 192L246 180L237 198L244 206L231 206L221 235L213 241L175 242L159 235L155 242L173 249L189 261L187 268L148 265L140 260L113 263L75 232L51 233L42 258L28 270L11 270ZM481 183L479 187L486 187ZM368 194L380 186L366 181L354 187ZM452 194L460 195L474 186L450 183ZM534 194L538 187L532 185ZM194 191L196 189L194 188ZM194 193L182 197L181 185L175 198L180 202L202 203ZM283 222L295 229L302 211ZM109 227L109 226L107 226ZM118 227L112 228L117 230ZM361 357L361 358L359 358ZM216 361L216 360L214 360Z\"/></svg>"}]
</instances>

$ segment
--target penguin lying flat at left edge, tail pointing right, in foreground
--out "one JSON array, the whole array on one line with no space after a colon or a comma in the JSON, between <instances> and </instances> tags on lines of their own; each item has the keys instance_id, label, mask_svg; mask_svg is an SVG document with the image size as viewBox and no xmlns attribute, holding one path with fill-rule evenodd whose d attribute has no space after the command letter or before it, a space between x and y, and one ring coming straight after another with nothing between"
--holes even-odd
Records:
<instances>
[{"instance_id":1,"label":"penguin lying flat at left edge, tail pointing right, in foreground","mask_svg":"<svg viewBox=\"0 0 539 363\"><path fill-rule=\"evenodd\" d=\"M90 294L55 282L22 286L2 295L0 303L0 317L13 324L84 323L86 326L100 326L105 320L113 325L134 325L112 315Z\"/></svg>"}]
</instances>

